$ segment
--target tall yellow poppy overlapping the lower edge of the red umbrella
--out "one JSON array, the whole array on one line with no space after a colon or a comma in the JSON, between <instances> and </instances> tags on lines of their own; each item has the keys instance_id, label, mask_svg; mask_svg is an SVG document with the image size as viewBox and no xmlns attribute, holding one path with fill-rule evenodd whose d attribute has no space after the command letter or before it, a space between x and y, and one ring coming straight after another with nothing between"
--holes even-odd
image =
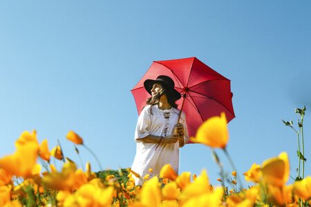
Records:
<instances>
[{"instance_id":1,"label":"tall yellow poppy overlapping the lower edge of the red umbrella","mask_svg":"<svg viewBox=\"0 0 311 207\"><path fill-rule=\"evenodd\" d=\"M201 143L211 148L225 148L229 140L227 119L222 112L220 117L207 119L197 130L196 137L191 137L194 143Z\"/></svg>"}]
</instances>

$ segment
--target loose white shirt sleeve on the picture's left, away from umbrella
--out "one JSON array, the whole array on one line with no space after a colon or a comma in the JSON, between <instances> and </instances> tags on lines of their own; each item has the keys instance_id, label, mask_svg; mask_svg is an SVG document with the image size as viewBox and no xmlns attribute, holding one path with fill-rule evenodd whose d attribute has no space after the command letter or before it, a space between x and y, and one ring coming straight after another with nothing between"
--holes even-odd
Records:
<instances>
[{"instance_id":1,"label":"loose white shirt sleeve on the picture's left, away from umbrella","mask_svg":"<svg viewBox=\"0 0 311 207\"><path fill-rule=\"evenodd\" d=\"M135 140L138 138L144 138L150 135L150 110L149 106L146 106L142 112L140 113L140 116L138 117L136 130L135 130Z\"/></svg>"}]
</instances>

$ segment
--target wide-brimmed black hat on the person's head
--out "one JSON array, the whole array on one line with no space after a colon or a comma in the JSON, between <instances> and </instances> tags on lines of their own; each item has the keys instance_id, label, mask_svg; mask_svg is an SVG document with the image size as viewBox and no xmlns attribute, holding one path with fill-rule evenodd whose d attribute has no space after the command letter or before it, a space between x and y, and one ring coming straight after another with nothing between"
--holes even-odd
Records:
<instances>
[{"instance_id":1,"label":"wide-brimmed black hat on the person's head","mask_svg":"<svg viewBox=\"0 0 311 207\"><path fill-rule=\"evenodd\" d=\"M180 92L175 90L175 83L170 77L166 75L160 75L156 80L147 79L144 81L144 88L147 90L147 92L149 92L150 95L154 83L161 83L161 85L165 88L165 94L173 96L175 100L181 98Z\"/></svg>"}]
</instances>

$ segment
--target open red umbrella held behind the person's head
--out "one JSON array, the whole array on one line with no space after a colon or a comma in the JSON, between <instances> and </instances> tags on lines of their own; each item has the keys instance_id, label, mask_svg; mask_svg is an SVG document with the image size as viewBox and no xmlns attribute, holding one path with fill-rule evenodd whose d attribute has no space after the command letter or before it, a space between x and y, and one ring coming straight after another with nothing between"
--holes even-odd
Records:
<instances>
[{"instance_id":1,"label":"open red umbrella held behind the person's head","mask_svg":"<svg viewBox=\"0 0 311 207\"><path fill-rule=\"evenodd\" d=\"M198 127L209 117L225 112L227 121L234 115L230 80L220 75L196 57L153 61L144 77L131 90L140 114L146 105L149 93L144 89L146 79L167 75L175 82L180 92L178 108L185 112L189 136L195 136Z\"/></svg>"}]
</instances>

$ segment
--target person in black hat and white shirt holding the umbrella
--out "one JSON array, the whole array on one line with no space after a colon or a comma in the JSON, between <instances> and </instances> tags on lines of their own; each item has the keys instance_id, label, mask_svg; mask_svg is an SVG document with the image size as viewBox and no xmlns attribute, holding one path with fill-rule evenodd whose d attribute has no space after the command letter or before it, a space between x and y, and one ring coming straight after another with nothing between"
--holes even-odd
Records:
<instances>
[{"instance_id":1,"label":"person in black hat and white shirt holding the umbrella","mask_svg":"<svg viewBox=\"0 0 311 207\"><path fill-rule=\"evenodd\" d=\"M144 88L152 97L147 99L147 106L138 117L136 155L131 168L135 185L139 186L146 174L150 177L159 175L165 164L171 164L178 172L179 148L189 140L184 113L177 124L180 110L175 102L181 96L174 89L173 80L160 75L156 80L144 81ZM150 168L152 170L149 171Z\"/></svg>"}]
</instances>

